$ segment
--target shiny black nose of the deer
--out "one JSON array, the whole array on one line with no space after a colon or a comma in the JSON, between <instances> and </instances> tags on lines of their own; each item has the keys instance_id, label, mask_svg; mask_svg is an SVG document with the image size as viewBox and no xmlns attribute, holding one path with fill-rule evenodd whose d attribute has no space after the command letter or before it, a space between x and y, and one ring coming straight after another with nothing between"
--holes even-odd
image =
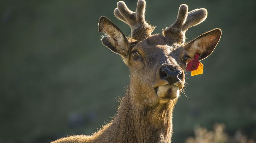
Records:
<instances>
[{"instance_id":1,"label":"shiny black nose of the deer","mask_svg":"<svg viewBox=\"0 0 256 143\"><path fill-rule=\"evenodd\" d=\"M171 84L181 81L183 73L178 69L176 65L162 65L159 73L160 78L167 80Z\"/></svg>"}]
</instances>

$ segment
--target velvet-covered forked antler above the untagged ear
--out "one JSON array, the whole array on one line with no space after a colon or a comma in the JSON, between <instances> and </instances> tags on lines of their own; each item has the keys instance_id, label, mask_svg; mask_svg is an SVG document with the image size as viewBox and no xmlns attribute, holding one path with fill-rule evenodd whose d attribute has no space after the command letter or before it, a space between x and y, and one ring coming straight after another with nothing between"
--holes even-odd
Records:
<instances>
[{"instance_id":1,"label":"velvet-covered forked antler above the untagged ear","mask_svg":"<svg viewBox=\"0 0 256 143\"><path fill-rule=\"evenodd\" d=\"M145 0L138 1L136 12L129 10L125 2L119 1L117 2L117 8L114 10L114 15L130 26L132 38L138 41L150 37L155 29L145 20L145 8Z\"/></svg>"}]
</instances>

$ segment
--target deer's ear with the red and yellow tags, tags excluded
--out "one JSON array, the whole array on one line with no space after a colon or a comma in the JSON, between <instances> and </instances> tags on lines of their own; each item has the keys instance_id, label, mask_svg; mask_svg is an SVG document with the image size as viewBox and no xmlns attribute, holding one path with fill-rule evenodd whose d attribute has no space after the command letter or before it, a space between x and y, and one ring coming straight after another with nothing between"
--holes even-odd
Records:
<instances>
[{"instance_id":1,"label":"deer's ear with the red and yellow tags, tags excluded","mask_svg":"<svg viewBox=\"0 0 256 143\"><path fill-rule=\"evenodd\" d=\"M199 60L203 60L213 52L220 41L220 37L221 30L214 29L195 38L183 47L188 52L190 57L194 57L194 55L198 53L200 54Z\"/></svg>"}]
</instances>

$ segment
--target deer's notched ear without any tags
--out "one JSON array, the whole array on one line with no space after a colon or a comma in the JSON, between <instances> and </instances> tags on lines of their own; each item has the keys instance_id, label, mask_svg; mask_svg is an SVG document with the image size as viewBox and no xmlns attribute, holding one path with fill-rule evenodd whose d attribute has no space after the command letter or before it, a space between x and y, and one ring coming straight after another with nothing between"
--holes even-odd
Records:
<instances>
[{"instance_id":1,"label":"deer's notched ear without any tags","mask_svg":"<svg viewBox=\"0 0 256 143\"><path fill-rule=\"evenodd\" d=\"M114 53L122 55L124 58L128 55L130 43L126 36L116 25L104 16L101 16L99 20L99 32L103 32L107 35L101 39L102 44L107 46Z\"/></svg>"}]
</instances>

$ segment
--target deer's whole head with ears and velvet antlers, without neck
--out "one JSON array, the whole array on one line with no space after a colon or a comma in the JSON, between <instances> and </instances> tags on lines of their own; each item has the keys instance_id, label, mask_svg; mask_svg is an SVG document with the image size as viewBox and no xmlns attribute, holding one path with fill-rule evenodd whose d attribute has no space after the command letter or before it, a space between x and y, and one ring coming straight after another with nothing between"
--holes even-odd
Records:
<instances>
[{"instance_id":1,"label":"deer's whole head with ears and velvet antlers, without neck","mask_svg":"<svg viewBox=\"0 0 256 143\"><path fill-rule=\"evenodd\" d=\"M131 28L131 37L108 18L99 20L99 32L105 33L102 43L114 53L120 54L130 67L130 92L132 99L142 105L154 106L179 97L184 87L186 63L199 54L199 60L207 58L221 37L221 30L214 29L185 43L185 33L190 27L207 18L206 9L188 12L188 6L179 7L176 22L162 31L151 33L154 26L145 20L146 2L139 0L136 12L129 10L122 1L117 3L114 15Z\"/></svg>"}]
</instances>

